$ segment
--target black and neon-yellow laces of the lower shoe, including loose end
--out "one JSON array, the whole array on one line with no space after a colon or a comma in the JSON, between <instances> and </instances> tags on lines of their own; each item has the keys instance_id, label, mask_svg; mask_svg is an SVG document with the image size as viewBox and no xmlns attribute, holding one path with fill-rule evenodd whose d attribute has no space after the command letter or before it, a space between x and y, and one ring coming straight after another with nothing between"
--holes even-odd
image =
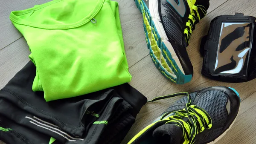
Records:
<instances>
[{"instance_id":1,"label":"black and neon-yellow laces of the lower shoe, including loose end","mask_svg":"<svg viewBox=\"0 0 256 144\"><path fill-rule=\"evenodd\" d=\"M205 128L210 129L212 127L212 119L204 109L196 105L191 105L192 100L188 92L165 95L154 98L148 102L172 98L180 95L187 95L188 97L188 103L186 104L185 108L175 112L167 112L161 117L161 120L167 120L166 124L175 124L179 126L183 130L185 144L193 144L195 142L195 136L198 133L203 132ZM174 113L174 115L165 118L170 113Z\"/></svg>"}]
</instances>

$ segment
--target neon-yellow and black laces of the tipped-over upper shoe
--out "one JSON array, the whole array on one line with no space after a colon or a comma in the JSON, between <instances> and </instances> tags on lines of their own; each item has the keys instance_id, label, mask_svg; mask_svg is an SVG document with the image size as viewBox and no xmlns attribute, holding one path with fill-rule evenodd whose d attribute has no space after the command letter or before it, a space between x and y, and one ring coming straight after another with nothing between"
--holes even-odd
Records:
<instances>
[{"instance_id":1,"label":"neon-yellow and black laces of the tipped-over upper shoe","mask_svg":"<svg viewBox=\"0 0 256 144\"><path fill-rule=\"evenodd\" d=\"M186 35L186 42L188 45L189 45L189 39L192 35L192 31L195 29L195 25L199 22L199 20L201 20L198 9L200 9L204 13L204 15L206 15L206 10L204 6L202 5L192 6L192 11L189 14L189 20L186 23L186 29L184 30L184 34Z\"/></svg>"}]
</instances>

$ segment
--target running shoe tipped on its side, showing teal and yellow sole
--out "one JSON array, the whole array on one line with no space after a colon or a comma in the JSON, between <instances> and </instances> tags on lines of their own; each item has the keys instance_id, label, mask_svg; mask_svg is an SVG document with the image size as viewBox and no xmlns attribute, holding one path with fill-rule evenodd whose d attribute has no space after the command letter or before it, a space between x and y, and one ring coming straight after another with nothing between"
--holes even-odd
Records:
<instances>
[{"instance_id":1,"label":"running shoe tipped on its side, showing teal and yellow sole","mask_svg":"<svg viewBox=\"0 0 256 144\"><path fill-rule=\"evenodd\" d=\"M195 24L209 0L135 0L143 14L145 37L155 66L177 84L191 81L193 66L186 52Z\"/></svg>"}]
</instances>

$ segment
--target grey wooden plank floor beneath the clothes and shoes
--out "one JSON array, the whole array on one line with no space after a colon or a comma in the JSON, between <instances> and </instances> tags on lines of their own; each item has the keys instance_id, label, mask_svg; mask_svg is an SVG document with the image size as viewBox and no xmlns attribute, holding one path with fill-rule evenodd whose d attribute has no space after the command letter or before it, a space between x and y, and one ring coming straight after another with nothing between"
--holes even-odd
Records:
<instances>
[{"instance_id":1,"label":"grey wooden plank floor beneath the clothes and shoes","mask_svg":"<svg viewBox=\"0 0 256 144\"><path fill-rule=\"evenodd\" d=\"M3 0L0 4L0 89L29 61L26 40L9 20L14 10L23 10L49 0ZM229 84L212 81L201 75L202 58L199 54L201 37L207 34L209 22L221 14L244 13L256 17L255 0L210 0L207 16L196 26L187 48L194 66L194 77L189 84L180 86L166 80L151 61L146 47L142 15L133 0L118 0L125 50L131 75L131 86L148 99L174 92L193 92L209 86L231 86L241 95L241 109L236 123L218 144L256 143L256 85L255 81ZM137 121L122 144L126 144L137 132L159 116L178 98L146 104L137 115ZM0 144L2 144L0 142Z\"/></svg>"}]
</instances>

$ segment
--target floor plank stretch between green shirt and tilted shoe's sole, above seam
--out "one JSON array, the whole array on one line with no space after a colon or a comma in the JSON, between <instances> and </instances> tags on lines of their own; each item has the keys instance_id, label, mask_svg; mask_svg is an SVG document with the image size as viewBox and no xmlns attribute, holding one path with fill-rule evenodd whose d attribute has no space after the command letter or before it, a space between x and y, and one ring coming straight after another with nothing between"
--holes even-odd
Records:
<instances>
[{"instance_id":1,"label":"floor plank stretch between green shirt and tilted shoe's sole, above seam","mask_svg":"<svg viewBox=\"0 0 256 144\"><path fill-rule=\"evenodd\" d=\"M148 55L148 49L145 48L147 45L143 31L142 15L137 9L134 0L115 1L119 2L119 14L128 65L133 66Z\"/></svg>"}]
</instances>

